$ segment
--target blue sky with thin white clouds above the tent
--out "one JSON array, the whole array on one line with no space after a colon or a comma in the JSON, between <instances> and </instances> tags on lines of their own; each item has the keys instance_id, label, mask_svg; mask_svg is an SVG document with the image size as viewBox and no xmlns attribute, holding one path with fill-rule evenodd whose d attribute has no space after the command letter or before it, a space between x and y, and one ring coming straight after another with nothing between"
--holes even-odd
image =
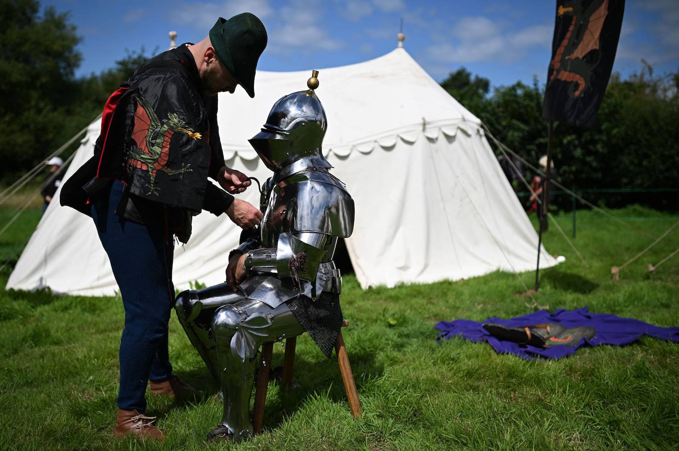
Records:
<instances>
[{"instance_id":1,"label":"blue sky with thin white clouds above the tent","mask_svg":"<svg viewBox=\"0 0 679 451\"><path fill-rule=\"evenodd\" d=\"M613 70L679 70L679 0L627 0ZM554 0L215 0L44 1L69 11L83 41L78 75L99 72L126 55L199 41L218 16L253 12L269 45L259 69L296 71L352 64L390 52L403 18L405 49L437 81L466 67L493 86L545 81L554 27Z\"/></svg>"}]
</instances>

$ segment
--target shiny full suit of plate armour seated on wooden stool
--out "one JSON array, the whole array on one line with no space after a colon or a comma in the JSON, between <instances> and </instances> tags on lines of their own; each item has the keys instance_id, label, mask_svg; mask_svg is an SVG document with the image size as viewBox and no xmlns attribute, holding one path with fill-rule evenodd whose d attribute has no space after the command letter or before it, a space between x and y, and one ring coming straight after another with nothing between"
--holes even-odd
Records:
<instances>
[{"instance_id":1,"label":"shiny full suit of plate armour seated on wooden stool","mask_svg":"<svg viewBox=\"0 0 679 451\"><path fill-rule=\"evenodd\" d=\"M310 88L318 86L315 75ZM208 437L253 433L249 403L261 344L308 331L329 357L339 333L342 278L333 253L337 238L352 233L354 202L321 153L326 128L312 89L274 104L249 141L274 171L262 189L264 217L232 252L246 253L248 276L235 291L223 283L184 291L175 302L191 343L221 383L223 417Z\"/></svg>"}]
</instances>

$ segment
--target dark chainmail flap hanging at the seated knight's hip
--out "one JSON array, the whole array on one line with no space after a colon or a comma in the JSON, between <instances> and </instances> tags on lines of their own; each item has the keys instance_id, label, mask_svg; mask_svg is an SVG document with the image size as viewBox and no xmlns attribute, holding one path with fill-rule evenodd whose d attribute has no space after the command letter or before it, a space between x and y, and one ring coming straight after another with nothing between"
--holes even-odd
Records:
<instances>
[{"instance_id":1,"label":"dark chainmail flap hanging at the seated knight's hip","mask_svg":"<svg viewBox=\"0 0 679 451\"><path fill-rule=\"evenodd\" d=\"M342 329L343 317L342 308L339 307L339 295L321 293L315 301L306 296L293 297L287 304L325 357L330 358L339 330Z\"/></svg>"}]
</instances>

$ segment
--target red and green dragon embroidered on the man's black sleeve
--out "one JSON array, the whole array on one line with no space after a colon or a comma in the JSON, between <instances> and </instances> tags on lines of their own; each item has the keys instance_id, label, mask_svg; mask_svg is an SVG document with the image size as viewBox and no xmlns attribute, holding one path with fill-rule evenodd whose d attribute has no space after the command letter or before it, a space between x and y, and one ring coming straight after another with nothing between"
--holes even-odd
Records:
<instances>
[{"instance_id":1,"label":"red and green dragon embroidered on the man's black sleeve","mask_svg":"<svg viewBox=\"0 0 679 451\"><path fill-rule=\"evenodd\" d=\"M134 130L132 139L136 147L128 153L128 171L134 168L147 170L150 181L148 183L149 194L158 195L158 187L155 186L155 176L158 171L168 175L177 175L190 172L191 164L182 164L181 169L172 169L167 166L170 158L170 141L175 132L187 134L194 141L202 135L191 129L186 122L181 120L176 113L168 113L163 124L153 107L141 96L134 96L136 111L134 111Z\"/></svg>"}]
</instances>

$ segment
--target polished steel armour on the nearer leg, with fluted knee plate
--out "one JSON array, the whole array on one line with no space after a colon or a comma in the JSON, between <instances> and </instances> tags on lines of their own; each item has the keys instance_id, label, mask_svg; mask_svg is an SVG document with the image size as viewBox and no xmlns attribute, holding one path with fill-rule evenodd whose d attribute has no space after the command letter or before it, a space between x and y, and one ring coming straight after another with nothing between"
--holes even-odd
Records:
<instances>
[{"instance_id":1,"label":"polished steel armour on the nearer leg, with fluted knee plate","mask_svg":"<svg viewBox=\"0 0 679 451\"><path fill-rule=\"evenodd\" d=\"M249 416L257 349L264 342L304 332L286 304L272 308L257 300L242 300L217 309L213 318L219 376L224 393L221 424L236 439L253 433Z\"/></svg>"}]
</instances>

